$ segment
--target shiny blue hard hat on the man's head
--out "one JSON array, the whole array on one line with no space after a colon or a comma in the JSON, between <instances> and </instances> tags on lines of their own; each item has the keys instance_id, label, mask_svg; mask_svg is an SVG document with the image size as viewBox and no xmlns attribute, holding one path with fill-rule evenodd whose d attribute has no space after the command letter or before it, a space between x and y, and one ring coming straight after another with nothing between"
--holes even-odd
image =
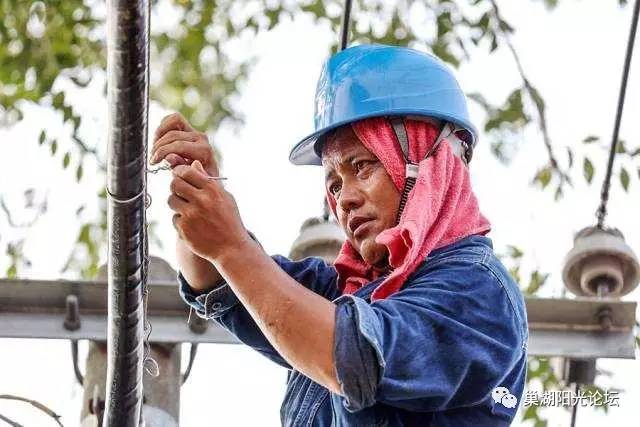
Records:
<instances>
[{"instance_id":1,"label":"shiny blue hard hat on the man's head","mask_svg":"<svg viewBox=\"0 0 640 427\"><path fill-rule=\"evenodd\" d=\"M296 165L322 164L323 137L357 120L376 116L426 116L477 131L451 70L415 49L358 45L333 55L322 67L315 99L315 132L291 150Z\"/></svg>"}]
</instances>

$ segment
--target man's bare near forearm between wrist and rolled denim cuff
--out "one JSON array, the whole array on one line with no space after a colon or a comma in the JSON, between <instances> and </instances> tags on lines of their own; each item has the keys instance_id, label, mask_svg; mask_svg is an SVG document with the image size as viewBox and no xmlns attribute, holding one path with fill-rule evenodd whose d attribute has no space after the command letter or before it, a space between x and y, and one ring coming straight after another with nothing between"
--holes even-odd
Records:
<instances>
[{"instance_id":1,"label":"man's bare near forearm between wrist and rolled denim cuff","mask_svg":"<svg viewBox=\"0 0 640 427\"><path fill-rule=\"evenodd\" d=\"M340 393L333 358L335 304L292 279L255 242L212 262L278 353Z\"/></svg>"}]
</instances>

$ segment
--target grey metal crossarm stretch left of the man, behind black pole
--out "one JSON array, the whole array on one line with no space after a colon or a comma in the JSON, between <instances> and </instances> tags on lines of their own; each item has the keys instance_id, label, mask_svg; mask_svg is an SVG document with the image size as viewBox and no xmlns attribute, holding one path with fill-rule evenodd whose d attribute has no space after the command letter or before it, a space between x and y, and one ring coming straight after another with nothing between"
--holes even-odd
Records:
<instances>
[{"instance_id":1,"label":"grey metal crossarm stretch left of the man, behind black pole","mask_svg":"<svg viewBox=\"0 0 640 427\"><path fill-rule=\"evenodd\" d=\"M215 322L187 325L187 305L175 282L149 283L154 343L236 344ZM0 279L0 338L107 340L107 282Z\"/></svg>"}]
</instances>

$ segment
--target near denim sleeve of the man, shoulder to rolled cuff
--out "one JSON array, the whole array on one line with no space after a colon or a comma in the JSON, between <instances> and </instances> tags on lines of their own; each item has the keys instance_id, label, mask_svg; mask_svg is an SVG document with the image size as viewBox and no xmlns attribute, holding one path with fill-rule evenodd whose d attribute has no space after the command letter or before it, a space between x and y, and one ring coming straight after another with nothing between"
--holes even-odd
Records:
<instances>
[{"instance_id":1,"label":"near denim sleeve of the man, shoulder to rolled cuff","mask_svg":"<svg viewBox=\"0 0 640 427\"><path fill-rule=\"evenodd\" d=\"M522 357L521 325L482 266L416 279L384 300L334 302L334 359L345 409L376 402L441 411L485 399ZM473 274L471 274L473 273Z\"/></svg>"}]
</instances>

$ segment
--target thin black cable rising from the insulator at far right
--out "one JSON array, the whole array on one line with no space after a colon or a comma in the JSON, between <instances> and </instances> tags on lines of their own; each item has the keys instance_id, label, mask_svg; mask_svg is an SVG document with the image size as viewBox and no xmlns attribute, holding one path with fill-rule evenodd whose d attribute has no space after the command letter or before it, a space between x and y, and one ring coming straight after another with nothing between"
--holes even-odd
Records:
<instances>
[{"instance_id":1,"label":"thin black cable rising from the insulator at far right","mask_svg":"<svg viewBox=\"0 0 640 427\"><path fill-rule=\"evenodd\" d=\"M620 83L620 93L618 96L618 109L616 110L616 121L613 126L613 138L609 149L609 160L607 162L607 172L602 183L600 194L600 206L596 212L598 218L598 228L604 227L604 219L607 216L607 202L609 201L609 187L611 186L611 174L613 171L613 160L616 155L618 145L618 133L620 131L620 121L622 120L622 110L624 108L624 97L627 92L627 80L629 79L629 68L631 68L631 56L633 55L633 44L636 39L638 28L638 14L640 12L640 0L636 0L631 18L631 28L629 29L629 40L627 41L627 53L622 71L622 82Z\"/></svg>"}]
</instances>

